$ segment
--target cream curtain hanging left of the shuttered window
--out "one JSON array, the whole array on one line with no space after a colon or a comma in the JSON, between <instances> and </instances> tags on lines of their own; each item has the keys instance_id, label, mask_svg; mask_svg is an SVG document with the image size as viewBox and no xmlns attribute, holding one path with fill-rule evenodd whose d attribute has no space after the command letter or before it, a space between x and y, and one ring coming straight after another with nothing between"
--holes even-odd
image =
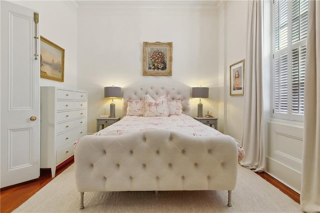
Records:
<instances>
[{"instance_id":1,"label":"cream curtain hanging left of the shuttered window","mask_svg":"<svg viewBox=\"0 0 320 213\"><path fill-rule=\"evenodd\" d=\"M248 34L244 73L244 123L241 165L260 172L265 169L262 92L262 1L249 3Z\"/></svg>"}]
</instances>

